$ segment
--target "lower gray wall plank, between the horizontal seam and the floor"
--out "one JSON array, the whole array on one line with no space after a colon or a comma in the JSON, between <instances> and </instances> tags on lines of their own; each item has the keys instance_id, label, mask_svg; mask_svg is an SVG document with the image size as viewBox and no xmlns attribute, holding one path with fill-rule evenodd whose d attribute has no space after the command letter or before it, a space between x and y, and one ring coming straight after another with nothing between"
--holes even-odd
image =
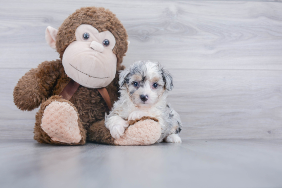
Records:
<instances>
[{"instance_id":1,"label":"lower gray wall plank, between the horizontal seam and the floor","mask_svg":"<svg viewBox=\"0 0 282 188\"><path fill-rule=\"evenodd\" d=\"M23 136L8 133L9 129L18 131L19 127L28 128L32 137L38 109L19 111L13 104L11 87L27 70L0 69L0 84L7 85L0 93L0 138L25 138L26 133ZM168 101L182 118L184 128L180 136L190 139L281 138L282 71L169 71L175 87Z\"/></svg>"}]
</instances>

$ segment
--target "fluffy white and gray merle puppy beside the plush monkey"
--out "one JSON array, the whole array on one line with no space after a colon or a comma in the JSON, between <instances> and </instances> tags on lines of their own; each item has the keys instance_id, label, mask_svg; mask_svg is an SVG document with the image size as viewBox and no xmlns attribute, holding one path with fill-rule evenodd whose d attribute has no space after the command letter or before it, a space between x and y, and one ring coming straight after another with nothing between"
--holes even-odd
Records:
<instances>
[{"instance_id":1,"label":"fluffy white and gray merle puppy beside the plush monkey","mask_svg":"<svg viewBox=\"0 0 282 188\"><path fill-rule=\"evenodd\" d=\"M179 114L167 103L167 91L173 88L172 77L158 62L137 61L119 74L120 97L105 116L105 125L119 138L129 120L156 117L162 128L158 142L181 143L182 123Z\"/></svg>"}]
</instances>

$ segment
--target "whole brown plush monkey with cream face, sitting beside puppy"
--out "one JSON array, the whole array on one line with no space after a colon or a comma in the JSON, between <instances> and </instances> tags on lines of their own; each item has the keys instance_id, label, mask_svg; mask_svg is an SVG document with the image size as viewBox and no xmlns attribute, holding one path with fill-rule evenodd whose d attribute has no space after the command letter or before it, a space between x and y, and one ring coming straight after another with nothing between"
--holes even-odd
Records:
<instances>
[{"instance_id":1,"label":"whole brown plush monkey with cream face, sitting beside puppy","mask_svg":"<svg viewBox=\"0 0 282 188\"><path fill-rule=\"evenodd\" d=\"M118 99L118 72L127 52L127 32L105 8L76 10L58 30L47 27L47 43L60 59L44 61L17 83L13 96L21 110L36 114L34 139L53 145L149 145L160 137L157 120L129 122L114 139L105 127L105 113Z\"/></svg>"}]
</instances>

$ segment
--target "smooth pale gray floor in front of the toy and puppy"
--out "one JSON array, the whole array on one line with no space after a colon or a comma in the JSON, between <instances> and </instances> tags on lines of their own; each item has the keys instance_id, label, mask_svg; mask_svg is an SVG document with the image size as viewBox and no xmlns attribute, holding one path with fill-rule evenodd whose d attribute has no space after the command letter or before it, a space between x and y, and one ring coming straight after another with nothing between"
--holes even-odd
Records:
<instances>
[{"instance_id":1,"label":"smooth pale gray floor in front of the toy and puppy","mask_svg":"<svg viewBox=\"0 0 282 188\"><path fill-rule=\"evenodd\" d=\"M1 187L281 187L282 140L50 146L0 140Z\"/></svg>"}]
</instances>

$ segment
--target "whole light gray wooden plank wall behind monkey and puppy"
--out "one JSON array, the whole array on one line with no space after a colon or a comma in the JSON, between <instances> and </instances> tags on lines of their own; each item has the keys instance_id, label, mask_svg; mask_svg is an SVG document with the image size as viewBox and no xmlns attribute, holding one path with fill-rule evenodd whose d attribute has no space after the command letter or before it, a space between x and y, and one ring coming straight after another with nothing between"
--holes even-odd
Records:
<instances>
[{"instance_id":1,"label":"whole light gray wooden plank wall behind monkey and puppy","mask_svg":"<svg viewBox=\"0 0 282 188\"><path fill-rule=\"evenodd\" d=\"M282 137L280 1L2 1L0 139L32 139L34 116L19 111L18 79L58 58L45 42L80 7L103 6L131 41L124 64L157 60L174 76L169 101L189 139Z\"/></svg>"}]
</instances>

